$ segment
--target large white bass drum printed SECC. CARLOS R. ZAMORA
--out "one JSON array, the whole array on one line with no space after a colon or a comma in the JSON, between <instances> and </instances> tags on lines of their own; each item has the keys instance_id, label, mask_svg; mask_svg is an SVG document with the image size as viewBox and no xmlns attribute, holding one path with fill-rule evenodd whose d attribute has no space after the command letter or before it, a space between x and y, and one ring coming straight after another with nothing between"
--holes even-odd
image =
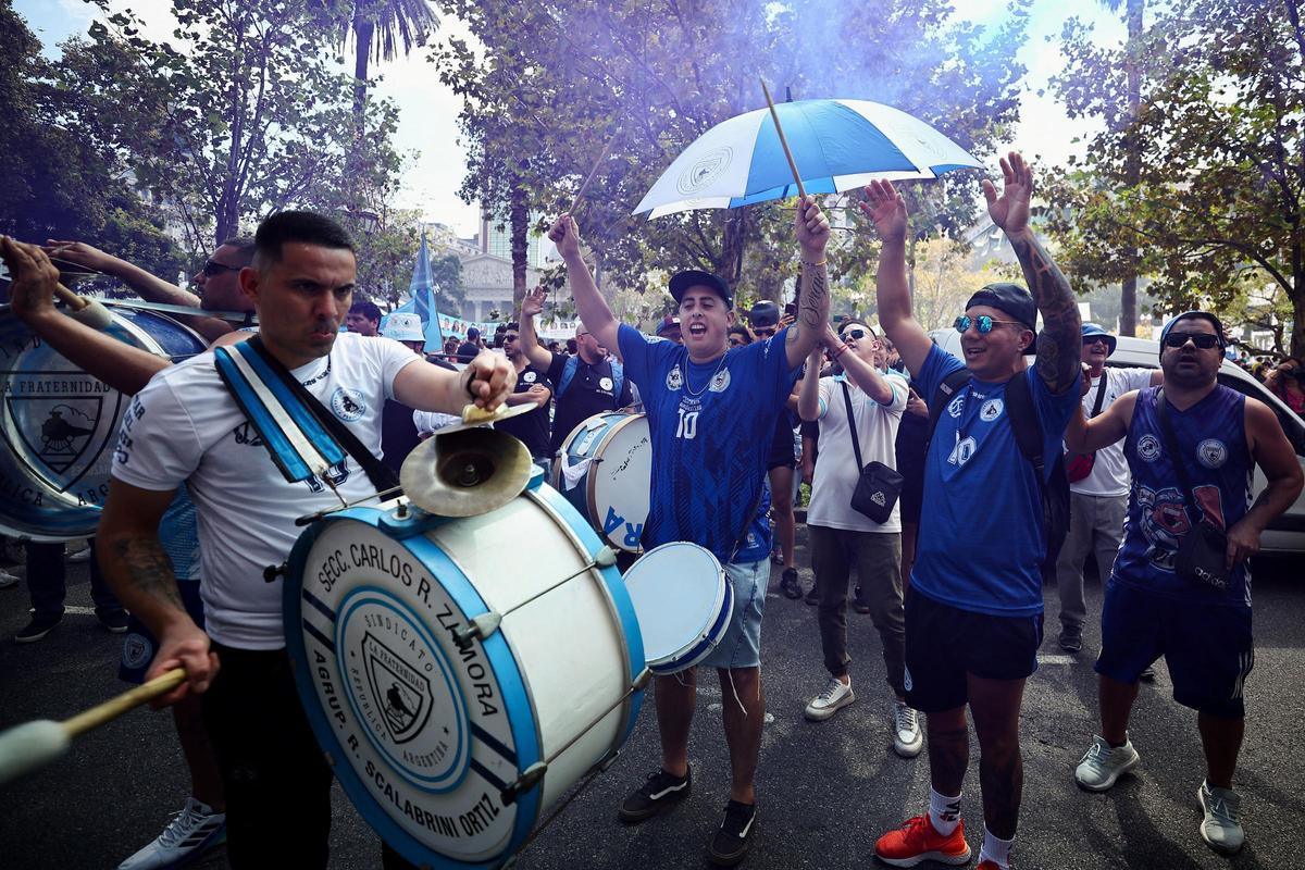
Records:
<instances>
[{"instance_id":1,"label":"large white bass drum printed SECC. CARLOS R. ZAMORA","mask_svg":"<svg viewBox=\"0 0 1305 870\"><path fill-rule=\"evenodd\" d=\"M497 866L634 727L638 621L616 569L594 565L615 554L542 481L479 517L343 510L291 554L286 642L308 720L350 800L416 865ZM522 540L529 553L505 548ZM501 623L461 647L487 613Z\"/></svg>"}]
</instances>

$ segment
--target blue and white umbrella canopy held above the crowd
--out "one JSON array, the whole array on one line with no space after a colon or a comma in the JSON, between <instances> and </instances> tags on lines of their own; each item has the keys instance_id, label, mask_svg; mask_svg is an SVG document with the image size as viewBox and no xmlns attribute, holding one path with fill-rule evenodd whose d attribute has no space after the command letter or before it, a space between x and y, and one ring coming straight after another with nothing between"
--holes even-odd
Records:
<instances>
[{"instance_id":1,"label":"blue and white umbrella canopy held above the crowd","mask_svg":"<svg viewBox=\"0 0 1305 870\"><path fill-rule=\"evenodd\" d=\"M977 168L963 147L906 112L865 99L779 103L779 121L806 193L842 193L873 179L936 179ZM699 136L639 202L659 218L693 209L736 209L797 196L770 110L758 108Z\"/></svg>"}]
</instances>

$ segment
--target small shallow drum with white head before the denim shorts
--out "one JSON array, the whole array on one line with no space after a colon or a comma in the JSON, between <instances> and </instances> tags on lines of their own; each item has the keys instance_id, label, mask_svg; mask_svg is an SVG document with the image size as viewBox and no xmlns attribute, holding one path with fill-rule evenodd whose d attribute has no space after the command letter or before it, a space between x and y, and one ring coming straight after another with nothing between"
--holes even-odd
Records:
<instances>
[{"instance_id":1,"label":"small shallow drum with white head before the denim shorts","mask_svg":"<svg viewBox=\"0 0 1305 870\"><path fill-rule=\"evenodd\" d=\"M654 547L625 571L625 588L655 674L698 664L729 627L733 586L705 547L685 541Z\"/></svg>"}]
</instances>

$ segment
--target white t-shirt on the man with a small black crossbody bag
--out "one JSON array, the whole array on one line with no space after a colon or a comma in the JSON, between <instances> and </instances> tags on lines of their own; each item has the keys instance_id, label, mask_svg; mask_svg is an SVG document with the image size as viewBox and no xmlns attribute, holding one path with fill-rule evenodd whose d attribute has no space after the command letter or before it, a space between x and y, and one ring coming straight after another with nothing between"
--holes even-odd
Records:
<instances>
[{"instance_id":1,"label":"white t-shirt on the man with a small black crossbody bag","mask_svg":"<svg viewBox=\"0 0 1305 870\"><path fill-rule=\"evenodd\" d=\"M825 377L820 380L820 457L812 481L812 501L806 509L808 526L825 526L855 532L900 532L900 506L893 506L893 515L880 526L865 514L852 509L852 493L860 468L852 450L852 433L847 427L847 403L843 383L847 383L856 415L856 436L861 445L861 464L882 462L897 468L898 425L910 387L900 374L890 372L883 378L893 389L893 402L880 404L868 397L851 378Z\"/></svg>"}]
</instances>

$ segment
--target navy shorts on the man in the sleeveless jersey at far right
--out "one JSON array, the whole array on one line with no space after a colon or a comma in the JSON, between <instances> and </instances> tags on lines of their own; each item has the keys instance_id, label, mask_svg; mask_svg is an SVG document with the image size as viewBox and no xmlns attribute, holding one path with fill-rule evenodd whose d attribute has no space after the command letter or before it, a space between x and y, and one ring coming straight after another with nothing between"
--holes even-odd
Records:
<instances>
[{"instance_id":1,"label":"navy shorts on the man in the sleeveless jersey at far right","mask_svg":"<svg viewBox=\"0 0 1305 870\"><path fill-rule=\"evenodd\" d=\"M1096 673L1131 685L1160 656L1180 704L1221 719L1246 715L1242 685L1255 667L1249 607L1189 603L1112 580Z\"/></svg>"}]
</instances>

